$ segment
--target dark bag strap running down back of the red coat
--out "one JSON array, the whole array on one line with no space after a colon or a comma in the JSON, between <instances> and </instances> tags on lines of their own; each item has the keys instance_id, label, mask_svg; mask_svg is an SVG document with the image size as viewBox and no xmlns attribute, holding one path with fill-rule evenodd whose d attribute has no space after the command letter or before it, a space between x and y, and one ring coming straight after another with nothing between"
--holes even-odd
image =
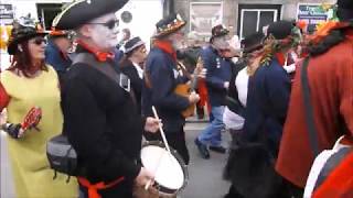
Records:
<instances>
[{"instance_id":1,"label":"dark bag strap running down back of the red coat","mask_svg":"<svg viewBox=\"0 0 353 198\"><path fill-rule=\"evenodd\" d=\"M309 141L311 150L314 154L314 156L319 155L319 142L318 142L318 130L314 124L313 119L313 108L311 103L311 97L310 97L310 87L309 87L309 79L308 79L308 66L309 66L309 58L307 57L303 61L302 67L301 67L301 86L302 86L302 92L303 92L303 102L304 102L304 111L306 111L306 120L308 125L308 132L309 132Z\"/></svg>"}]
</instances>

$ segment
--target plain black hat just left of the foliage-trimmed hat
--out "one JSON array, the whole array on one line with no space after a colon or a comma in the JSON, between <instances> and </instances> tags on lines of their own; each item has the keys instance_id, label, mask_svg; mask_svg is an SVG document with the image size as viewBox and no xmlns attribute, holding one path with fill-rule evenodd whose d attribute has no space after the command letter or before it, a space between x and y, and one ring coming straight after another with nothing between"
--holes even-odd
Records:
<instances>
[{"instance_id":1,"label":"plain black hat just left of the foliage-trimmed hat","mask_svg":"<svg viewBox=\"0 0 353 198\"><path fill-rule=\"evenodd\" d=\"M243 52L244 53L252 53L256 50L261 48L264 46L263 45L264 38L265 38L265 34L263 32L257 32L257 33L254 33L252 35L246 36L242 41Z\"/></svg>"}]
</instances>

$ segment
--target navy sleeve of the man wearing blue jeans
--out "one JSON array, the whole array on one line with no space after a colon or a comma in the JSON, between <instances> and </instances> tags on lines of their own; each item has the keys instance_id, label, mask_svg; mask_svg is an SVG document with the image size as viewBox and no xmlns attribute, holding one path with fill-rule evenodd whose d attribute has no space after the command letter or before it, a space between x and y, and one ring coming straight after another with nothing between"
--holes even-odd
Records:
<instances>
[{"instance_id":1,"label":"navy sleeve of the man wearing blue jeans","mask_svg":"<svg viewBox=\"0 0 353 198\"><path fill-rule=\"evenodd\" d=\"M216 65L213 61L212 55L210 55L208 53L206 53L205 51L203 51L201 53L201 58L204 63L204 68L207 69L207 74L206 74L206 84L215 89L222 89L224 90L224 80L222 80L221 78L217 78L216 76L214 76L214 70L216 69Z\"/></svg>"}]
</instances>

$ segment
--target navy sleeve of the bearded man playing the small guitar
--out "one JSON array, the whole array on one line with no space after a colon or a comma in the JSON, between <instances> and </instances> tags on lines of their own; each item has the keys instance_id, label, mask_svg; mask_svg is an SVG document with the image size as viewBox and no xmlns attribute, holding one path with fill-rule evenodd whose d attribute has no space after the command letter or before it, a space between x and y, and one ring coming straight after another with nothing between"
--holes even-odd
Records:
<instances>
[{"instance_id":1,"label":"navy sleeve of the bearded man playing the small guitar","mask_svg":"<svg viewBox=\"0 0 353 198\"><path fill-rule=\"evenodd\" d=\"M154 58L151 64L152 102L168 109L186 109L190 106L189 99L174 94L174 74L171 74L161 58Z\"/></svg>"}]
</instances>

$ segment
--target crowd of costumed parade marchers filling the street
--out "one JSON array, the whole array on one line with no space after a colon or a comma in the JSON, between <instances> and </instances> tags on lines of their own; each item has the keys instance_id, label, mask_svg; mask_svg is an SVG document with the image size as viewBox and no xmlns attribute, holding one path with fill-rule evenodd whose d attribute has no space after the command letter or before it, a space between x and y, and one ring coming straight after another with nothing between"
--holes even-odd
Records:
<instances>
[{"instance_id":1,"label":"crowd of costumed parade marchers filling the street","mask_svg":"<svg viewBox=\"0 0 353 198\"><path fill-rule=\"evenodd\" d=\"M127 1L74 1L50 33L30 18L14 21L0 109L7 109L1 124L17 197L139 197L137 188L154 179L140 160L142 138L167 140L190 164L184 132L190 111L210 117L194 140L200 156L229 151L226 198L302 197L317 155L312 125L318 151L342 135L350 142L352 1L339 0L340 20L310 34L299 23L277 21L239 41L220 24L208 42L190 33L186 47L186 21L172 13L156 24L150 50L128 29L117 40L115 12ZM310 107L303 99L307 84ZM24 128L33 108L40 117ZM228 147L224 131L232 136ZM77 153L72 174L77 180L65 173L53 180L46 144L61 134ZM341 197L352 196L351 187Z\"/></svg>"}]
</instances>

